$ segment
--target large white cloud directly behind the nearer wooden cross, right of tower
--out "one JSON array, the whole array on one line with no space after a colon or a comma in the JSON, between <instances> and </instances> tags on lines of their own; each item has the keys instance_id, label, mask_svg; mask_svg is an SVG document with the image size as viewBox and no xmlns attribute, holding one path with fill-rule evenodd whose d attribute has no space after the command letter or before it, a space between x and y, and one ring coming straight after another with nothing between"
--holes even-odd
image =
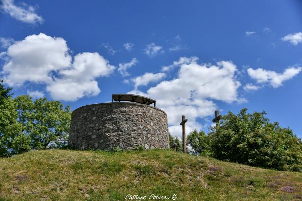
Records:
<instances>
[{"instance_id":1,"label":"large white cloud directly behind the nearer wooden cross, right of tower","mask_svg":"<svg viewBox=\"0 0 302 201\"><path fill-rule=\"evenodd\" d=\"M240 101L237 89L241 86L236 80L237 67L231 61L221 61L216 65L197 64L197 57L182 57L178 75L171 80L164 80L146 93L137 89L129 92L148 96L157 100L157 106L168 114L171 134L181 136L181 116L188 119L187 132L201 129L197 118L213 115L217 108L213 100L227 103Z\"/></svg>"}]
</instances>

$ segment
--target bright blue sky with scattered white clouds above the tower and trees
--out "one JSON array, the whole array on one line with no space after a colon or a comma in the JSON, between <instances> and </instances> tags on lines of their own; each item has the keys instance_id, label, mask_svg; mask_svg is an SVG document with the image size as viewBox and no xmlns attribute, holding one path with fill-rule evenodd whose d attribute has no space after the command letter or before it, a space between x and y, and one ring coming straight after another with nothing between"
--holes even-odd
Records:
<instances>
[{"instance_id":1,"label":"bright blue sky with scattered white clouds above the tower and trees","mask_svg":"<svg viewBox=\"0 0 302 201\"><path fill-rule=\"evenodd\" d=\"M15 96L76 109L142 94L178 136L182 114L207 132L215 109L246 107L302 137L299 0L2 0L0 42Z\"/></svg>"}]
</instances>

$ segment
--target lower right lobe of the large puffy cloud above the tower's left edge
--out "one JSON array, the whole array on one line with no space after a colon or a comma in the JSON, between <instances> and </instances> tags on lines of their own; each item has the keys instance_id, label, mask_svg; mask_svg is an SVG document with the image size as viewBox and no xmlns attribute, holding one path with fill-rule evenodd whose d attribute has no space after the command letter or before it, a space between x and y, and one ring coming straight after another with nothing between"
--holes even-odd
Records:
<instances>
[{"instance_id":1,"label":"lower right lobe of the large puffy cloud above the tower's left edge","mask_svg":"<svg viewBox=\"0 0 302 201\"><path fill-rule=\"evenodd\" d=\"M76 101L96 96L101 90L95 79L108 76L114 68L98 53L84 52L76 55L71 67L60 71L62 77L52 81L46 90L56 100Z\"/></svg>"}]
</instances>

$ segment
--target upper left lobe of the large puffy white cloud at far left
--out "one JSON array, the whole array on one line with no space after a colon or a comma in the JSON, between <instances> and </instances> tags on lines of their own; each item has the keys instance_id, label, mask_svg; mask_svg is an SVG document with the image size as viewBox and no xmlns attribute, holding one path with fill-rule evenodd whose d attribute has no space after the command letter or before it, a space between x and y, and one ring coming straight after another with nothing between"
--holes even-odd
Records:
<instances>
[{"instance_id":1,"label":"upper left lobe of the large puffy white cloud at far left","mask_svg":"<svg viewBox=\"0 0 302 201\"><path fill-rule=\"evenodd\" d=\"M3 66L7 83L20 86L25 81L50 82L52 71L69 66L71 56L63 38L39 35L27 36L7 49L9 61Z\"/></svg>"}]
</instances>

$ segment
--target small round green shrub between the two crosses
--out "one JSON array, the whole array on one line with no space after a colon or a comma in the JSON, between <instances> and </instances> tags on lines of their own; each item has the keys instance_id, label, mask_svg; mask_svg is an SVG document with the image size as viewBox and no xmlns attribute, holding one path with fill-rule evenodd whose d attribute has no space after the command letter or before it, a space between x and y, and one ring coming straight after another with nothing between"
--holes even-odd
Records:
<instances>
[{"instance_id":1,"label":"small round green shrub between the two crosses","mask_svg":"<svg viewBox=\"0 0 302 201\"><path fill-rule=\"evenodd\" d=\"M187 137L187 145L194 149L196 155L207 152L208 144L208 138L203 131L198 133L197 130L194 130Z\"/></svg>"}]
</instances>

